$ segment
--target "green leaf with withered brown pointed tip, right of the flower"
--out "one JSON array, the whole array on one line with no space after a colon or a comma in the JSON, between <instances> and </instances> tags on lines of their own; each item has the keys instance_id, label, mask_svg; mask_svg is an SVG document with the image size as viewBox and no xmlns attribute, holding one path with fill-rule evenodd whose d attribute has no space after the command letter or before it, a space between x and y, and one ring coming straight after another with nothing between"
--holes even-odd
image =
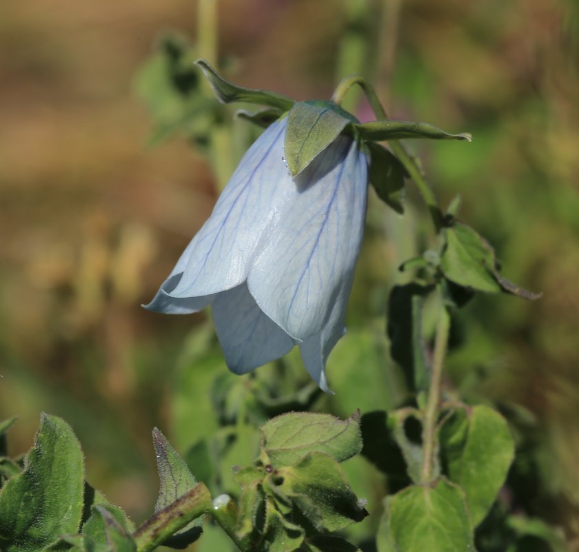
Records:
<instances>
[{"instance_id":1,"label":"green leaf with withered brown pointed tip, right of the flower","mask_svg":"<svg viewBox=\"0 0 579 552\"><path fill-rule=\"evenodd\" d=\"M445 228L446 246L440 269L452 282L480 292L508 292L525 299L538 299L506 278L497 269L494 249L471 227L456 221Z\"/></svg>"}]
</instances>

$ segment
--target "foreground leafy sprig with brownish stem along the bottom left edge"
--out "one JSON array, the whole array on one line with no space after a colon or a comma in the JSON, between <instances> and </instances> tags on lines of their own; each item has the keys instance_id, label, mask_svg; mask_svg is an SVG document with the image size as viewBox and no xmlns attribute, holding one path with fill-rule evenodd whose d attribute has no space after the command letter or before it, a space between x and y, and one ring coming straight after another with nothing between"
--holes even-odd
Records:
<instances>
[{"instance_id":1,"label":"foreground leafy sprig with brownish stem along the bottom left edge","mask_svg":"<svg viewBox=\"0 0 579 552\"><path fill-rule=\"evenodd\" d=\"M356 551L332 535L367 514L339 462L362 449L359 414L288 413L261 429L258 458L238 469L238 502L212 500L185 461L154 429L159 498L139 527L85 482L81 446L70 426L43 414L22 462L7 456L0 424L0 550L3 552L148 552L183 549L211 515L241 550Z\"/></svg>"}]
</instances>

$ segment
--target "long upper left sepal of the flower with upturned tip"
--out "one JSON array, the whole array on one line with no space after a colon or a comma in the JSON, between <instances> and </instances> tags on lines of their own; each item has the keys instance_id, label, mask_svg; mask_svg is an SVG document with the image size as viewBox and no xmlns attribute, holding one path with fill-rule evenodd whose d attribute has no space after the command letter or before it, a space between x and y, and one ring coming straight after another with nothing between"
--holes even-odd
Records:
<instances>
[{"instance_id":1,"label":"long upper left sepal of the flower with upturned tip","mask_svg":"<svg viewBox=\"0 0 579 552\"><path fill-rule=\"evenodd\" d=\"M289 111L295 103L294 100L277 92L254 90L253 88L243 88L242 86L234 85L223 79L204 59L197 60L195 65L201 68L215 96L222 103L232 103L234 101L258 103L259 105L269 105L282 111Z\"/></svg>"}]
</instances>

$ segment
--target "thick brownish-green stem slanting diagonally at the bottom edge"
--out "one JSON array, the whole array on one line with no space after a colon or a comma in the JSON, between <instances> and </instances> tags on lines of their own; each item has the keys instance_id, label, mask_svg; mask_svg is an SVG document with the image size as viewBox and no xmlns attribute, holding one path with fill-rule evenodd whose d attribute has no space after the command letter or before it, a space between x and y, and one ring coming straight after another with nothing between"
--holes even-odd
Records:
<instances>
[{"instance_id":1,"label":"thick brownish-green stem slanting diagonally at the bottom edge","mask_svg":"<svg viewBox=\"0 0 579 552\"><path fill-rule=\"evenodd\" d=\"M188 493L159 510L134 532L137 552L154 550L162 542L213 507L209 490L198 483Z\"/></svg>"}]
</instances>

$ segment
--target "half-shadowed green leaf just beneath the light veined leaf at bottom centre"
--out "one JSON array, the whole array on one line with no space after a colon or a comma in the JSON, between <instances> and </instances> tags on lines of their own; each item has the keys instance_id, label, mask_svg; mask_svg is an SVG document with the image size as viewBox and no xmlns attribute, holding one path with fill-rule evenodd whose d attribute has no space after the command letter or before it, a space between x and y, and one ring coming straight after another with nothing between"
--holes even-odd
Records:
<instances>
[{"instance_id":1,"label":"half-shadowed green leaf just beneath the light veined leaf at bottom centre","mask_svg":"<svg viewBox=\"0 0 579 552\"><path fill-rule=\"evenodd\" d=\"M344 529L367 515L365 501L358 500L340 464L323 453L312 452L294 466L274 469L263 489L278 510L289 511L293 505L318 532Z\"/></svg>"}]
</instances>

